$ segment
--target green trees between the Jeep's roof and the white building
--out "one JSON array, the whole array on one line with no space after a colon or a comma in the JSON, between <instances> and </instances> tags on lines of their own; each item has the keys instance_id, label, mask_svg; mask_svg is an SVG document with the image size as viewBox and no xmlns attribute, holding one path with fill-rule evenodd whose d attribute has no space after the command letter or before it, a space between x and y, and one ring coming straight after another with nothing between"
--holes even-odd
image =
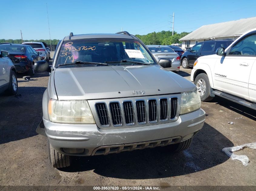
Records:
<instances>
[{"instance_id":1,"label":"green trees between the Jeep's roof and the white building","mask_svg":"<svg viewBox=\"0 0 256 191\"><path fill-rule=\"evenodd\" d=\"M178 34L174 31L174 34L172 36L172 31L165 31L162 30L161 32L153 32L148 33L146 35L139 35L136 34L135 36L138 37L145 45L171 45L175 43L181 43L179 39L182 37L185 37L189 32L182 32Z\"/></svg>"}]
</instances>

